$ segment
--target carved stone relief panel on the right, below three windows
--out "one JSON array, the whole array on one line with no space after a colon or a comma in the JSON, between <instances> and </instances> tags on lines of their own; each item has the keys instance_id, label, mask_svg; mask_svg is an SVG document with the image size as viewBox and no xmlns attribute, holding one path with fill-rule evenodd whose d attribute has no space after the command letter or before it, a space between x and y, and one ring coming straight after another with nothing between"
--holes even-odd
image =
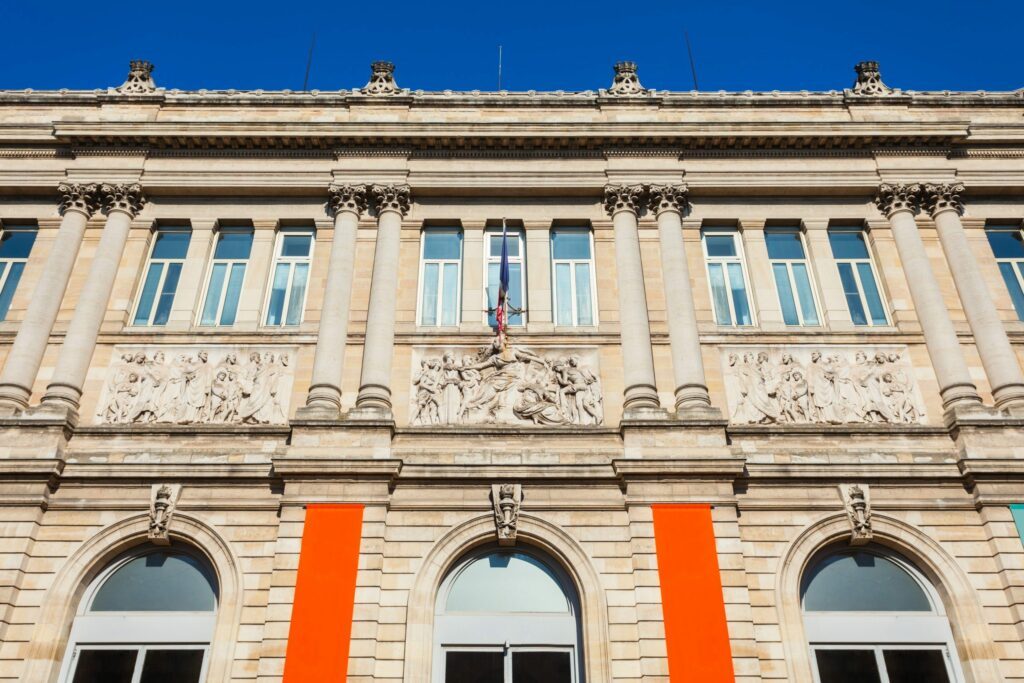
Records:
<instances>
[{"instance_id":1,"label":"carved stone relief panel on the right, below three windows","mask_svg":"<svg viewBox=\"0 0 1024 683\"><path fill-rule=\"evenodd\" d=\"M905 346L725 346L733 424L913 424L925 409Z\"/></svg>"}]
</instances>

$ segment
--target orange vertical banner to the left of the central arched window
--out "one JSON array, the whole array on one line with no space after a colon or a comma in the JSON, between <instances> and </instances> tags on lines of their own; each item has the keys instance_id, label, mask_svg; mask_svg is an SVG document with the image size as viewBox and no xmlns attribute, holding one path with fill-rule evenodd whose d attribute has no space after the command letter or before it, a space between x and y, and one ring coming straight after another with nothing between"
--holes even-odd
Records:
<instances>
[{"instance_id":1,"label":"orange vertical banner to the left of the central arched window","mask_svg":"<svg viewBox=\"0 0 1024 683\"><path fill-rule=\"evenodd\" d=\"M361 539L361 505L306 507L284 683L346 679Z\"/></svg>"}]
</instances>

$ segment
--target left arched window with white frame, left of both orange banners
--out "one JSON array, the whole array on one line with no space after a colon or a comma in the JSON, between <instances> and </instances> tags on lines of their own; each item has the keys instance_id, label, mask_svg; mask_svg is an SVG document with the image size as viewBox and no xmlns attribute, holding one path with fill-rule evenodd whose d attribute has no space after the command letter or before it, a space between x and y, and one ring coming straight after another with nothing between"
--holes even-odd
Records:
<instances>
[{"instance_id":1,"label":"left arched window with white frame, left of both orange banners","mask_svg":"<svg viewBox=\"0 0 1024 683\"><path fill-rule=\"evenodd\" d=\"M61 683L200 683L217 609L209 564L147 546L111 563L83 596Z\"/></svg>"}]
</instances>

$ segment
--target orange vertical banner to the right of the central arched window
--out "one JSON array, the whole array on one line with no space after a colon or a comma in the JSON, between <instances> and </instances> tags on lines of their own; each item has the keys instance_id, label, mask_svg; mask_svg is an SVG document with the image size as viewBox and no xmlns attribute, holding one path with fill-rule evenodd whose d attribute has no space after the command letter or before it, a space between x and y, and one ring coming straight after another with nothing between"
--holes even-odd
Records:
<instances>
[{"instance_id":1,"label":"orange vertical banner to the right of the central arched window","mask_svg":"<svg viewBox=\"0 0 1024 683\"><path fill-rule=\"evenodd\" d=\"M710 505L652 505L672 683L731 683L732 651Z\"/></svg>"}]
</instances>

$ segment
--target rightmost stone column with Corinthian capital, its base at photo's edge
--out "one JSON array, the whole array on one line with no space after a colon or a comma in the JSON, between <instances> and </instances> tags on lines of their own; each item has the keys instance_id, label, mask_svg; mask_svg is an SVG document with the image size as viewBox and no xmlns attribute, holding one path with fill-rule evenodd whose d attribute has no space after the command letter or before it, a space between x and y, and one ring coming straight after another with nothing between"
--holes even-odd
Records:
<instances>
[{"instance_id":1,"label":"rightmost stone column with Corinthian capital, its base at photo's edge","mask_svg":"<svg viewBox=\"0 0 1024 683\"><path fill-rule=\"evenodd\" d=\"M925 203L935 220L942 251L992 388L995 407L1024 411L1024 375L961 223L964 205L959 196L963 191L964 185L958 182L926 184Z\"/></svg>"}]
</instances>

